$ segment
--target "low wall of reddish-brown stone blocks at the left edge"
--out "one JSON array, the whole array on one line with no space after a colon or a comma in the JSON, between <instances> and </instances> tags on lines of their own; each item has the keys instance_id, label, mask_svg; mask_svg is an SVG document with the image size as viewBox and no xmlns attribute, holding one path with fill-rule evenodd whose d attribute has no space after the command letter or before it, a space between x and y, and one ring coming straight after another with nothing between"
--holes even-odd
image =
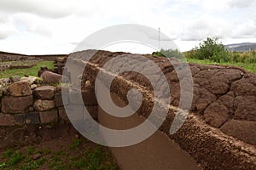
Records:
<instances>
[{"instance_id":1,"label":"low wall of reddish-brown stone blocks at the left edge","mask_svg":"<svg viewBox=\"0 0 256 170\"><path fill-rule=\"evenodd\" d=\"M0 126L68 121L61 88L40 83L38 77L23 77L0 85Z\"/></svg>"}]
</instances>

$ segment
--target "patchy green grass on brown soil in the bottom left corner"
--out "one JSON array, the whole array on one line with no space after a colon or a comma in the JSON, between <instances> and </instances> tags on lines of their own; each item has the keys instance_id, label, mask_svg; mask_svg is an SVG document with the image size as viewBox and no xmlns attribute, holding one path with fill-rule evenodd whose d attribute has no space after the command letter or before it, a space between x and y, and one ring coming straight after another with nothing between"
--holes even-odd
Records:
<instances>
[{"instance_id":1,"label":"patchy green grass on brown soil in the bottom left corner","mask_svg":"<svg viewBox=\"0 0 256 170\"><path fill-rule=\"evenodd\" d=\"M27 146L25 149L6 150L0 156L0 170L33 170L40 167L53 170L86 169L118 170L119 167L104 146L90 144L88 139L74 139L67 147L52 151L49 148ZM42 154L33 160L35 154Z\"/></svg>"}]
</instances>

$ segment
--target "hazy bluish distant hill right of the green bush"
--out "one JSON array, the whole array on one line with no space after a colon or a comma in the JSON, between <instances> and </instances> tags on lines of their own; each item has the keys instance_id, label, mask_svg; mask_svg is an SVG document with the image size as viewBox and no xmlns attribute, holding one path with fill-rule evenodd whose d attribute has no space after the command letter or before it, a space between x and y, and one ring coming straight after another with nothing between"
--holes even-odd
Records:
<instances>
[{"instance_id":1,"label":"hazy bluish distant hill right of the green bush","mask_svg":"<svg viewBox=\"0 0 256 170\"><path fill-rule=\"evenodd\" d=\"M256 50L256 42L242 42L225 45L225 48L229 51L245 52L250 50Z\"/></svg>"}]
</instances>

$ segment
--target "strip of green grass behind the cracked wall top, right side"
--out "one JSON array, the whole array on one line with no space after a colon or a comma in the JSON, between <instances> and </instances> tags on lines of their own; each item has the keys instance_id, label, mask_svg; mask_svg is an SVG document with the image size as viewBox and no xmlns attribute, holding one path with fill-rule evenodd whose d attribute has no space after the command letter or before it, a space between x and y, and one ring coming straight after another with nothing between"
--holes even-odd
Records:
<instances>
[{"instance_id":1,"label":"strip of green grass behind the cracked wall top, right side","mask_svg":"<svg viewBox=\"0 0 256 170\"><path fill-rule=\"evenodd\" d=\"M197 63L200 65L234 65L234 66L244 68L247 71L256 73L256 63L230 63L230 62L217 63L209 59L189 59L189 58L187 58L187 62Z\"/></svg>"}]
</instances>

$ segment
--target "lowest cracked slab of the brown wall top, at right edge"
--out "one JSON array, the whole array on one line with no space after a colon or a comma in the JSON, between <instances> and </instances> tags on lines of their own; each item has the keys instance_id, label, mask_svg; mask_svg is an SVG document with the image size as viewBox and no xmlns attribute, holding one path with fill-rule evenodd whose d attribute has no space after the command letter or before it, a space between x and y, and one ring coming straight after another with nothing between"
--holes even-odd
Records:
<instances>
[{"instance_id":1,"label":"lowest cracked slab of the brown wall top, at right edge","mask_svg":"<svg viewBox=\"0 0 256 170\"><path fill-rule=\"evenodd\" d=\"M236 139L256 145L256 122L230 120L224 123L220 130Z\"/></svg>"}]
</instances>

